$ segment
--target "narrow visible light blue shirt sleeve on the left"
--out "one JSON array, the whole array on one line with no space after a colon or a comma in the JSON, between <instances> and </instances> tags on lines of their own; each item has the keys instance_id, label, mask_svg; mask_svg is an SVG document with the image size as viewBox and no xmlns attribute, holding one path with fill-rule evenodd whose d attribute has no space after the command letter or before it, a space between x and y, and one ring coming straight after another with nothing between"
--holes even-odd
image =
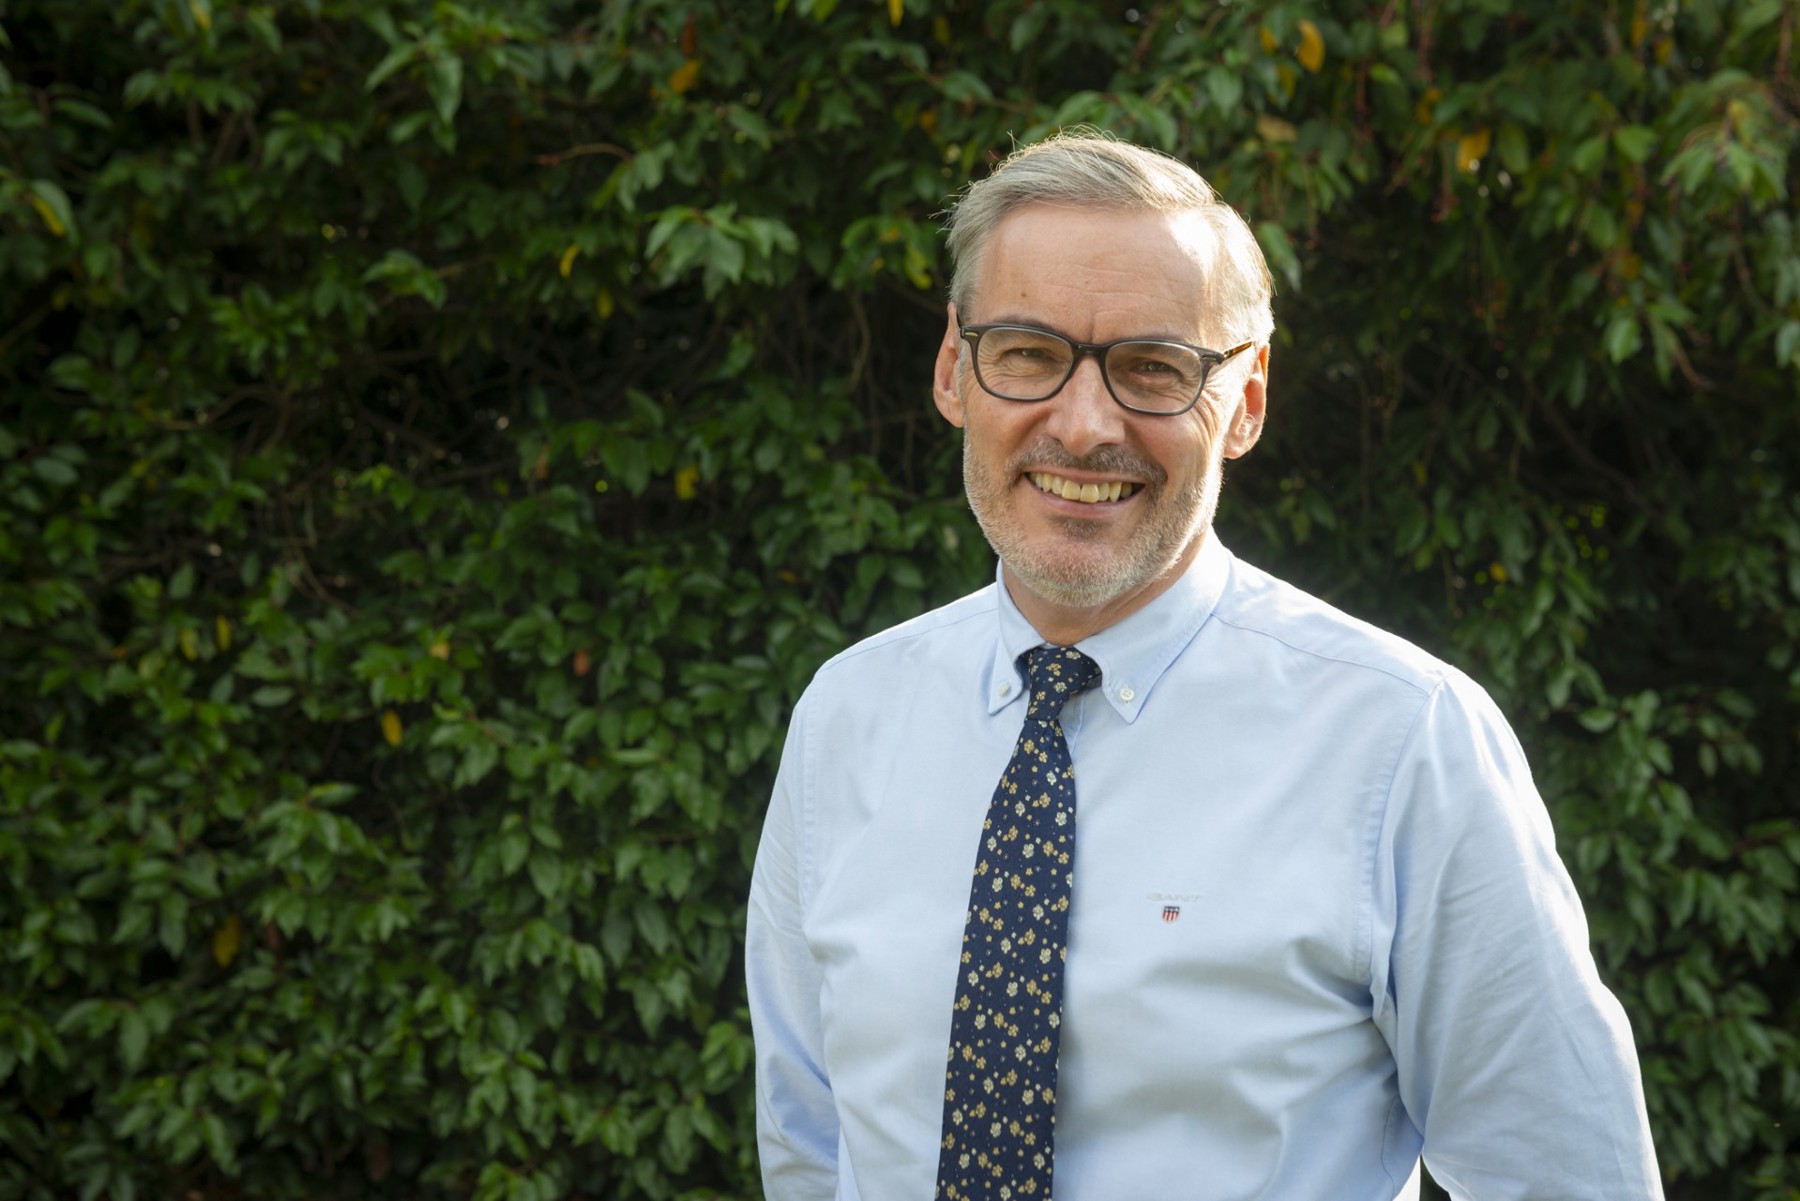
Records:
<instances>
[{"instance_id":1,"label":"narrow visible light blue shirt sleeve on the left","mask_svg":"<svg viewBox=\"0 0 1800 1201\"><path fill-rule=\"evenodd\" d=\"M824 1071L819 965L803 933L805 709L781 751L751 879L745 978L756 1039L756 1142L763 1190L781 1201L837 1196L837 1109Z\"/></svg>"}]
</instances>

